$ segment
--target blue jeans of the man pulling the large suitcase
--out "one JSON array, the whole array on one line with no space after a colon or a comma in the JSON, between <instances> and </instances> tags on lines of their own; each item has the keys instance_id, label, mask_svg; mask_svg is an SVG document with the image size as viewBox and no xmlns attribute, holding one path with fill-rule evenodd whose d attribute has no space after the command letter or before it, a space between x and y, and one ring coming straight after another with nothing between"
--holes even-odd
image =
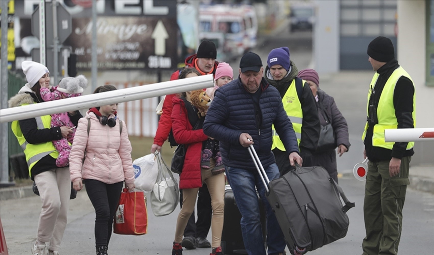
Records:
<instances>
[{"instance_id":1,"label":"blue jeans of the man pulling the large suitcase","mask_svg":"<svg viewBox=\"0 0 434 255\"><path fill-rule=\"evenodd\" d=\"M270 180L279 177L279 169L275 163L269 167L264 167L264 169ZM259 173L256 170L226 167L226 177L241 213L240 224L247 253L249 255L266 254L255 186L265 206L268 254L284 252L285 239L276 216L271 211L271 206L265 197L265 186Z\"/></svg>"}]
</instances>

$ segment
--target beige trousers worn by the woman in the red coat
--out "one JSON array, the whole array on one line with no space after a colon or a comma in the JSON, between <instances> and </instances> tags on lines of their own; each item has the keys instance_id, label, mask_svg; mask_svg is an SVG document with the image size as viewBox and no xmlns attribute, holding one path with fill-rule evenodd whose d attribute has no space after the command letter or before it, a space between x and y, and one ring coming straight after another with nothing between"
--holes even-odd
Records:
<instances>
[{"instance_id":1,"label":"beige trousers worn by the woman in the red coat","mask_svg":"<svg viewBox=\"0 0 434 255\"><path fill-rule=\"evenodd\" d=\"M224 173L213 175L211 169L215 166L215 161L211 160L210 169L202 169L202 182L208 186L208 191L211 196L211 208L213 216L211 219L211 232L213 248L220 246L221 232L223 230L224 219ZM187 226L188 219L194 210L196 204L197 193L199 188L182 189L182 208L176 222L175 240L174 242L181 243L184 229Z\"/></svg>"}]
</instances>

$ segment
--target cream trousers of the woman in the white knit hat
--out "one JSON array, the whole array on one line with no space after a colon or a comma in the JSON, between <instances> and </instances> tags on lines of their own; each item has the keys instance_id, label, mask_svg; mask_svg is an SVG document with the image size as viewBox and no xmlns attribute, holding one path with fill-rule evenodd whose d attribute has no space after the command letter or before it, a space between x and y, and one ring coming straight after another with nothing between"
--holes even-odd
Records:
<instances>
[{"instance_id":1,"label":"cream trousers of the woman in the white knit hat","mask_svg":"<svg viewBox=\"0 0 434 255\"><path fill-rule=\"evenodd\" d=\"M59 251L66 229L71 178L69 167L55 168L35 176L42 210L39 215L37 241L49 243L48 248Z\"/></svg>"}]
</instances>

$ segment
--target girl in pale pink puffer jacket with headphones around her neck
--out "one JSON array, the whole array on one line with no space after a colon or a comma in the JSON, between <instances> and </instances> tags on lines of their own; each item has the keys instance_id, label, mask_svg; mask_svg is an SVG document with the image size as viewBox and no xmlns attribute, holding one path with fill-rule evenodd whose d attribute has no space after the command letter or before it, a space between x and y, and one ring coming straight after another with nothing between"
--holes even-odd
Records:
<instances>
[{"instance_id":1,"label":"girl in pale pink puffer jacket with headphones around her neck","mask_svg":"<svg viewBox=\"0 0 434 255\"><path fill-rule=\"evenodd\" d=\"M93 93L115 89L112 85L104 85L96 88ZM107 254L113 218L124 181L128 190L134 190L132 147L125 123L116 116L117 108L118 104L91 108L86 117L79 120L69 154L72 186L79 191L84 183L95 208L97 254Z\"/></svg>"}]
</instances>

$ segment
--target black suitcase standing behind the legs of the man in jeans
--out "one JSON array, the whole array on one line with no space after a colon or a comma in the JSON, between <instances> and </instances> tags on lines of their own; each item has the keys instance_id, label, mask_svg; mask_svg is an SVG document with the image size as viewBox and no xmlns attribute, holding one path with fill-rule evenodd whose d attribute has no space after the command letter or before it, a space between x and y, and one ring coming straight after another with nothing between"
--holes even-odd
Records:
<instances>
[{"instance_id":1,"label":"black suitcase standing behind the legs of the man in jeans","mask_svg":"<svg viewBox=\"0 0 434 255\"><path fill-rule=\"evenodd\" d=\"M264 242L266 240L266 216L265 208L262 200L258 195L258 202L260 205L261 225ZM243 234L241 232L241 213L238 210L235 198L233 197L233 191L229 185L224 187L224 222L223 231L221 233L221 247L224 254L247 254L244 242Z\"/></svg>"}]
</instances>

